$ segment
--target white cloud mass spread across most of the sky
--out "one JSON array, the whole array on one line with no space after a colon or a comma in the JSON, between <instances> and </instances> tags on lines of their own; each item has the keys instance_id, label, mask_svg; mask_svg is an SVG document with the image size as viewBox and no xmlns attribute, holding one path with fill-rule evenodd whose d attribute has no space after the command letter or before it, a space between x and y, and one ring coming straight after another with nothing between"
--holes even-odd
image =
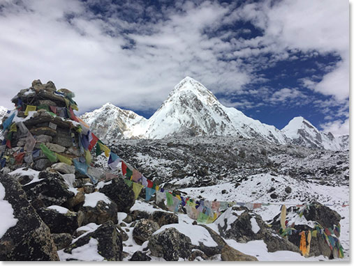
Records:
<instances>
[{"instance_id":1,"label":"white cloud mass spread across most of the sky","mask_svg":"<svg viewBox=\"0 0 354 266\"><path fill-rule=\"evenodd\" d=\"M285 0L275 6L261 1L237 9L233 4L186 1L161 12L153 7L144 10L135 1L121 6L105 1L104 16L75 0L29 0L22 6L6 1L0 11L0 105L12 107L10 98L33 79L52 80L58 88L75 91L82 111L105 102L156 109L186 75L214 93L237 94L245 92L245 84L267 81L254 70L295 59L288 49L337 52L343 58L337 68L320 83L308 81L313 83L311 89L342 100L348 93L348 6L345 1L323 1ZM128 10L137 19L127 22L119 16ZM154 14L151 22L142 21L144 12ZM245 19L264 35L229 40L237 35L206 33ZM122 48L127 45L131 49ZM302 97L298 90L283 93L274 93L273 101ZM238 106L255 104L244 100Z\"/></svg>"}]
</instances>

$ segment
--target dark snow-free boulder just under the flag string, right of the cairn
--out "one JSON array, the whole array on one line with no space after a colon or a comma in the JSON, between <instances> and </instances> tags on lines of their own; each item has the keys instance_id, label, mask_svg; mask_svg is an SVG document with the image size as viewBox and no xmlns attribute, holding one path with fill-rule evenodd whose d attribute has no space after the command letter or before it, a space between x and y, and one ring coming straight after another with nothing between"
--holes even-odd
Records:
<instances>
[{"instance_id":1,"label":"dark snow-free boulder just under the flag string, right of the cairn","mask_svg":"<svg viewBox=\"0 0 354 266\"><path fill-rule=\"evenodd\" d=\"M110 182L99 191L117 204L118 212L129 212L135 203L133 190L126 185L122 178L115 178Z\"/></svg>"}]
</instances>

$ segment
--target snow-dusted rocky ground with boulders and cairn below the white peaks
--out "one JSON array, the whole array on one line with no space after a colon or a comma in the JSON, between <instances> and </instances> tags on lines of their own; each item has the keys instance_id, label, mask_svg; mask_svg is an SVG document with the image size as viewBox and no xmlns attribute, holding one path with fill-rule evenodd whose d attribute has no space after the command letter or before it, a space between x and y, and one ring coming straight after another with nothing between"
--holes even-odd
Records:
<instances>
[{"instance_id":1,"label":"snow-dusted rocky ground with boulders and cairn below the white peaks","mask_svg":"<svg viewBox=\"0 0 354 266\"><path fill-rule=\"evenodd\" d=\"M94 135L73 112L74 95L36 80L3 118L0 260L349 259L348 150L281 144L264 132L162 139L117 133L93 149ZM125 114L121 123L143 120ZM250 128L244 132L254 133ZM108 166L112 155L124 161ZM122 162L153 181L156 194L147 199L142 185L137 191ZM191 198L194 207L171 211L167 197L157 202L157 191ZM194 217L201 202L216 206L214 222Z\"/></svg>"}]
</instances>

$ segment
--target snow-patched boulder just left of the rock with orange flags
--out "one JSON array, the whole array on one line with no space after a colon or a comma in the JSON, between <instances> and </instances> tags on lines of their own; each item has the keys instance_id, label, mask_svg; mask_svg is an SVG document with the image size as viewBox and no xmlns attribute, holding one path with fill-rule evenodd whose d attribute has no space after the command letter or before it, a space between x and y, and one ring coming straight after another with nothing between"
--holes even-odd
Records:
<instances>
[{"instance_id":1,"label":"snow-patched boulder just left of the rock with orange flags","mask_svg":"<svg viewBox=\"0 0 354 266\"><path fill-rule=\"evenodd\" d=\"M230 220L233 222L228 223ZM242 243L264 240L269 252L288 250L300 253L298 247L281 237L258 214L245 207L228 208L214 223L218 226L220 235L226 239Z\"/></svg>"}]
</instances>

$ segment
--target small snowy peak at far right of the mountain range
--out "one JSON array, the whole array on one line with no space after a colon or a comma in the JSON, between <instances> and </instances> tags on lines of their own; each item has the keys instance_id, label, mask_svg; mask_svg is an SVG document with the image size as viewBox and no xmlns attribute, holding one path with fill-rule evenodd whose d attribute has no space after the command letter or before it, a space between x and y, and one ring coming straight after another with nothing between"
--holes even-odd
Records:
<instances>
[{"instance_id":1,"label":"small snowy peak at far right of the mountain range","mask_svg":"<svg viewBox=\"0 0 354 266\"><path fill-rule=\"evenodd\" d=\"M341 139L336 139L330 132L320 132L301 116L290 120L281 132L286 134L297 145L309 148L324 148L326 150L344 150L345 144L342 144Z\"/></svg>"}]
</instances>

